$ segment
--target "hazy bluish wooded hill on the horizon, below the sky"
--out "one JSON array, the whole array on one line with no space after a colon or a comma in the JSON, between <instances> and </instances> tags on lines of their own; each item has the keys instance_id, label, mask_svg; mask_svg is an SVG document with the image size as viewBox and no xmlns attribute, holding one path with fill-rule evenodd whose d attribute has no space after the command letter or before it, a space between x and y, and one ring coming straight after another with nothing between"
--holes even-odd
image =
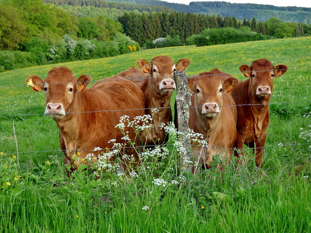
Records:
<instances>
[{"instance_id":1,"label":"hazy bluish wooded hill on the horizon, below the sky","mask_svg":"<svg viewBox=\"0 0 311 233\"><path fill-rule=\"evenodd\" d=\"M310 7L276 7L272 5L252 4L252 3L229 3L229 2L190 2L189 5L179 3L169 3L159 0L110 0L114 2L136 3L152 5L157 7L170 8L179 12L206 13L225 17L235 16L239 20L252 19L265 22L272 17L283 22L302 22L311 24ZM293 2L295 5L295 2Z\"/></svg>"}]
</instances>

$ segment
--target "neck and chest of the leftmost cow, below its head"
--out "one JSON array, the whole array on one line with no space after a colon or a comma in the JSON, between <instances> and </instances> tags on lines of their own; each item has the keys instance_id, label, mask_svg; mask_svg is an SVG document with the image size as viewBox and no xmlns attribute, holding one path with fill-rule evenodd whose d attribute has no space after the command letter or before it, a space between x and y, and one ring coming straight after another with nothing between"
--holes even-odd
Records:
<instances>
[{"instance_id":1,"label":"neck and chest of the leftmost cow, below its head","mask_svg":"<svg viewBox=\"0 0 311 233\"><path fill-rule=\"evenodd\" d=\"M74 112L67 114L67 116L60 120L56 121L58 129L60 131L60 134L63 137L64 143L66 145L67 150L67 157L73 158L73 155L76 154L77 150L79 149L79 128L78 126L81 126L81 121L83 121L83 112L81 111L82 108L78 105L78 99L80 99L84 93L76 92L70 108L66 110L66 112ZM79 98L77 97L79 96Z\"/></svg>"}]
</instances>

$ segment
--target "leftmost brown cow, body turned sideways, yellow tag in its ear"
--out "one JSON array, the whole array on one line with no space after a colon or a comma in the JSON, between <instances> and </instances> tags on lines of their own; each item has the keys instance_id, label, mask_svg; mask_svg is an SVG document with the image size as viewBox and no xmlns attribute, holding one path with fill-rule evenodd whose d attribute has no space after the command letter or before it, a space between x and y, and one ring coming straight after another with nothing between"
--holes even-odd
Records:
<instances>
[{"instance_id":1,"label":"leftmost brown cow, body turned sideways, yellow tag in its ear","mask_svg":"<svg viewBox=\"0 0 311 233\"><path fill-rule=\"evenodd\" d=\"M101 82L98 88L86 89L91 77L81 75L76 79L66 67L52 68L44 80L36 75L26 78L26 83L33 90L45 93L45 114L56 121L59 143L65 150L63 162L70 165L71 170L86 163L86 155L93 153L95 147L111 148L112 145L108 144L111 139L125 143L120 130L114 128L121 116L128 115L133 119L144 115L142 91L132 82L121 80L122 77L119 79ZM129 131L130 139L135 138L131 128L126 127L125 131ZM69 171L67 175L70 176Z\"/></svg>"}]
</instances>

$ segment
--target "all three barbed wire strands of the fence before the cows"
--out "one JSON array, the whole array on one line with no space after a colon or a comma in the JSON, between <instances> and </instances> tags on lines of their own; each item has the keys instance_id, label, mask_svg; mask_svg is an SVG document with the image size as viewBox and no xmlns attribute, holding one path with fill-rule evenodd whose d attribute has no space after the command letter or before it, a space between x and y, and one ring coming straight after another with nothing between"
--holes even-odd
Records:
<instances>
[{"instance_id":1,"label":"all three barbed wire strands of the fence before the cows","mask_svg":"<svg viewBox=\"0 0 311 233\"><path fill-rule=\"evenodd\" d=\"M298 67L298 68L290 68L287 70L300 70L300 69L310 69L311 66L307 66L307 67ZM282 70L282 69L279 69ZM264 71L256 71L256 72L266 72L266 71L274 71L274 70L264 70ZM233 74L240 74L241 72L234 72L231 73L229 75L233 75ZM221 76L221 75L228 75L228 73L223 73L223 74L204 74L204 75L193 75L195 77L202 77L202 76ZM167 79L172 79L174 78L174 76L166 76L163 78L167 78ZM193 77L192 76L192 77ZM106 81L118 81L118 80L124 80L124 79L119 79L117 78L117 75L114 76L116 77L115 79L110 78L109 80L97 80L97 81L86 81L89 83L95 83L95 82L106 82ZM146 80L146 79L150 79L151 77L137 77L137 78L126 78L126 80ZM86 83L83 82L83 83ZM68 84L68 82L63 82L63 83L49 83L49 85L61 85L61 84ZM36 84L36 85L44 85L43 84ZM9 85L9 86L0 86L0 88L14 88L14 87L26 87L27 85ZM238 107L238 106L252 106L252 105L279 105L279 104L295 104L295 103L311 103L311 100L307 100L307 101L296 101L296 102L280 102L280 103L264 103L264 104L242 104L242 105L222 105L219 107ZM199 106L199 107L203 107L203 106ZM156 107L157 109L165 109L165 108L174 108L174 107ZM195 108L195 107L189 107L189 108ZM177 110L185 110L185 109L189 109L189 108L177 108ZM79 111L79 112L65 112L65 114L72 114L72 113L96 113L96 112L122 112L122 111L137 111L137 110L147 110L147 109L155 109L155 108L137 108L137 109L117 109L117 110L96 110L96 111ZM52 114L52 113L50 113ZM24 117L24 116L43 116L43 115L49 115L49 114L45 114L45 113L37 113L37 114L11 114L11 115L0 115L0 117ZM269 145L269 146L264 146L264 147L257 147L258 148L273 148L273 147L289 147L289 146L304 146L304 145L309 145L310 143L294 143L294 144L282 144L279 143L278 145ZM174 144L160 144L159 146L174 146ZM135 146L135 148L141 148L144 146ZM124 149L126 148L132 148L132 147L122 147ZM219 149L235 149L235 148L224 148L224 147L217 147ZM112 148L108 148L108 150L110 149L114 149ZM245 149L255 149L255 148L244 148ZM40 151L25 151L25 152L18 152L19 154L25 154L25 153L44 153L44 152L61 152L62 150L60 149L55 149L55 150L40 150ZM66 150L66 151L70 151L70 150ZM72 151L76 151L76 150L72 150ZM92 152L94 150L79 150L79 151L89 151ZM11 155L11 154L16 154L16 152L10 152L10 153L6 153L7 155Z\"/></svg>"}]
</instances>

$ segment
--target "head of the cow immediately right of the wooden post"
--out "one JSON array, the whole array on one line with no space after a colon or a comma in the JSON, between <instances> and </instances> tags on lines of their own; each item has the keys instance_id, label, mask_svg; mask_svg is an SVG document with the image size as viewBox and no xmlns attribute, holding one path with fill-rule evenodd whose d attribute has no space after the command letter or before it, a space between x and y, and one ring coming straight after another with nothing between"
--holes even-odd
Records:
<instances>
[{"instance_id":1,"label":"head of the cow immediately right of the wooden post","mask_svg":"<svg viewBox=\"0 0 311 233\"><path fill-rule=\"evenodd\" d=\"M220 71L219 71L220 72ZM188 78L189 88L194 94L194 104L198 117L213 119L219 115L222 106L222 94L230 85L238 83L232 75L224 79L215 71L204 72Z\"/></svg>"}]
</instances>

